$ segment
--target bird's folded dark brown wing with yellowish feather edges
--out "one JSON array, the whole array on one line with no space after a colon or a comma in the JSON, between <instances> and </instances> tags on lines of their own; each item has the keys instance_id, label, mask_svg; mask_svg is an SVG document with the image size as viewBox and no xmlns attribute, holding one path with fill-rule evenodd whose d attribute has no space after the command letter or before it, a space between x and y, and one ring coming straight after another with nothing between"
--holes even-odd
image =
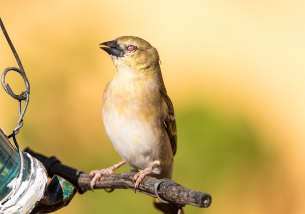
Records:
<instances>
[{"instance_id":1,"label":"bird's folded dark brown wing with yellowish feather edges","mask_svg":"<svg viewBox=\"0 0 305 214\"><path fill-rule=\"evenodd\" d=\"M167 114L163 118L163 123L168 133L173 155L175 155L177 150L177 129L176 129L176 119L174 115L174 108L166 92L163 92L163 95L168 108Z\"/></svg>"}]
</instances>

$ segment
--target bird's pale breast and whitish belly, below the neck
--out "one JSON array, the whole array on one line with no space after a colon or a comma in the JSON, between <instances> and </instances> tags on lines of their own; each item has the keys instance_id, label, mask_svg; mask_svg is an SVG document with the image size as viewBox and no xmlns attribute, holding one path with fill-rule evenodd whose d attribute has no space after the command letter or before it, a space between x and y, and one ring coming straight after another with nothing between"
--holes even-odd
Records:
<instances>
[{"instance_id":1,"label":"bird's pale breast and whitish belly, below the neck","mask_svg":"<svg viewBox=\"0 0 305 214\"><path fill-rule=\"evenodd\" d=\"M172 152L158 96L152 98L145 90L134 90L137 86L117 90L110 85L105 90L102 114L107 135L132 167L144 169L158 159L169 164Z\"/></svg>"}]
</instances>

